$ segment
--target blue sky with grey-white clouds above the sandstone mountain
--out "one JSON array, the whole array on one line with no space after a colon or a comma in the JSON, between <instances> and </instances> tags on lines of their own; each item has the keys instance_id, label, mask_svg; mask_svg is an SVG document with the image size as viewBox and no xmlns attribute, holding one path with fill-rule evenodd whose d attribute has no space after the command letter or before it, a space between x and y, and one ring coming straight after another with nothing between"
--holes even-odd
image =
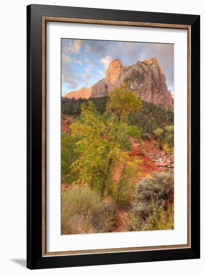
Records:
<instances>
[{"instance_id":1,"label":"blue sky with grey-white clouds above the sandstone mountain","mask_svg":"<svg viewBox=\"0 0 205 274\"><path fill-rule=\"evenodd\" d=\"M62 39L62 96L103 79L109 63L120 59L123 66L156 57L174 93L174 45L142 42Z\"/></svg>"}]
</instances>

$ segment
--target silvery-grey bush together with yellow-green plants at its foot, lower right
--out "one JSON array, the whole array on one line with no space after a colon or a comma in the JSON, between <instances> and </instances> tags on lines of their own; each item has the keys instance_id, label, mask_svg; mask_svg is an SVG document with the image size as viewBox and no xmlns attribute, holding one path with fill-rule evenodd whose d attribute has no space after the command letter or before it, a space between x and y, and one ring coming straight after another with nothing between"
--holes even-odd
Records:
<instances>
[{"instance_id":1,"label":"silvery-grey bush together with yellow-green plants at its foot, lower right","mask_svg":"<svg viewBox=\"0 0 205 274\"><path fill-rule=\"evenodd\" d=\"M136 186L133 215L127 220L128 231L174 228L174 181L171 173L153 172Z\"/></svg>"}]
</instances>

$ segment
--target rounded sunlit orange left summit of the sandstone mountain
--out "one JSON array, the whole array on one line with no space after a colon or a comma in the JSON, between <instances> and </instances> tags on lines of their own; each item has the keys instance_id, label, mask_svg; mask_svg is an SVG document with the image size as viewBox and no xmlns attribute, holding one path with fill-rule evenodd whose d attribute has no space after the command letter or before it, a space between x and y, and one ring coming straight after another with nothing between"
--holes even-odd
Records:
<instances>
[{"instance_id":1,"label":"rounded sunlit orange left summit of the sandstone mountain","mask_svg":"<svg viewBox=\"0 0 205 274\"><path fill-rule=\"evenodd\" d=\"M106 70L105 78L109 80L110 83L114 83L117 77L122 72L122 69L123 69L122 62L119 59L115 59L111 61L111 63L109 64Z\"/></svg>"}]
</instances>

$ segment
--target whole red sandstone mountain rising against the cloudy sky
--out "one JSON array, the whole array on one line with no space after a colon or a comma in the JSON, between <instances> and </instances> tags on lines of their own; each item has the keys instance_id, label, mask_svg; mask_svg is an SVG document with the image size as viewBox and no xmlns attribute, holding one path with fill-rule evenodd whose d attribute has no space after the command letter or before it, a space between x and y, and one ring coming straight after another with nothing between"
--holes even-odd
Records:
<instances>
[{"instance_id":1,"label":"whole red sandstone mountain rising against the cloudy sky","mask_svg":"<svg viewBox=\"0 0 205 274\"><path fill-rule=\"evenodd\" d=\"M155 105L163 105L166 109L173 107L174 99L167 89L166 76L158 64L157 58L137 61L135 64L123 67L119 59L113 60L106 70L105 78L92 87L81 88L67 93L67 98L102 97L120 87L125 79L129 79L130 89L138 90L138 96L143 101Z\"/></svg>"}]
</instances>

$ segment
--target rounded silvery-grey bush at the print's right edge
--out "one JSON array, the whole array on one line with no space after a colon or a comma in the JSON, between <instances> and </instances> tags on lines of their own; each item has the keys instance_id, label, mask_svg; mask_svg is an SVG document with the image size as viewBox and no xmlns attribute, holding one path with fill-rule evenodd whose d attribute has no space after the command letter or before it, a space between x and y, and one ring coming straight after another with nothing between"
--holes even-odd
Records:
<instances>
[{"instance_id":1,"label":"rounded silvery-grey bush at the print's right edge","mask_svg":"<svg viewBox=\"0 0 205 274\"><path fill-rule=\"evenodd\" d=\"M136 186L135 216L145 220L153 212L152 199L158 209L167 209L174 191L174 180L171 173L153 172L151 177L142 179Z\"/></svg>"}]
</instances>

